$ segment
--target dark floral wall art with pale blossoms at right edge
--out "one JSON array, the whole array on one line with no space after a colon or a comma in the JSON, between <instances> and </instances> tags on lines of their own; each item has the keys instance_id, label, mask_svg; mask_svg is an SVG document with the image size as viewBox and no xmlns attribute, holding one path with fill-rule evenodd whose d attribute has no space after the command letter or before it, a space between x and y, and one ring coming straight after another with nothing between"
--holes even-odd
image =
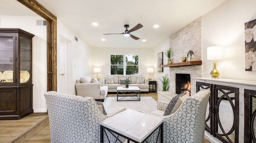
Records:
<instances>
[{"instance_id":1,"label":"dark floral wall art with pale blossoms at right edge","mask_svg":"<svg viewBox=\"0 0 256 143\"><path fill-rule=\"evenodd\" d=\"M245 71L256 71L256 20L245 26Z\"/></svg>"}]
</instances>

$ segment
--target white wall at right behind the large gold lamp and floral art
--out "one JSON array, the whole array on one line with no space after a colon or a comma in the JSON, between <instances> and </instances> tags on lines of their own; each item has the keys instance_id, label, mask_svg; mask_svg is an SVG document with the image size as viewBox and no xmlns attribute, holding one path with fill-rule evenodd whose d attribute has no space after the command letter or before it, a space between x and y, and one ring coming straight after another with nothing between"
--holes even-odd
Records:
<instances>
[{"instance_id":1,"label":"white wall at right behind the large gold lamp and floral art","mask_svg":"<svg viewBox=\"0 0 256 143\"><path fill-rule=\"evenodd\" d=\"M207 47L224 45L224 59L216 60L220 78L256 80L256 72L245 71L244 23L256 19L256 0L228 0L202 17L203 77L210 77L213 61Z\"/></svg>"}]
</instances>

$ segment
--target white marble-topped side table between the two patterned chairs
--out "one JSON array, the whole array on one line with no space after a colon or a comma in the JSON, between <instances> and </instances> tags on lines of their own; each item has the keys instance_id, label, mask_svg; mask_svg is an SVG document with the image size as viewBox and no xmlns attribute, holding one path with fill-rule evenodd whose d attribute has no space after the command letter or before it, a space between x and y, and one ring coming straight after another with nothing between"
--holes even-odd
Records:
<instances>
[{"instance_id":1,"label":"white marble-topped side table between the two patterned chairs","mask_svg":"<svg viewBox=\"0 0 256 143\"><path fill-rule=\"evenodd\" d=\"M143 143L154 131L158 131L158 139L163 142L163 119L131 109L100 122L100 143L103 143L105 130L126 138L128 143Z\"/></svg>"}]
</instances>

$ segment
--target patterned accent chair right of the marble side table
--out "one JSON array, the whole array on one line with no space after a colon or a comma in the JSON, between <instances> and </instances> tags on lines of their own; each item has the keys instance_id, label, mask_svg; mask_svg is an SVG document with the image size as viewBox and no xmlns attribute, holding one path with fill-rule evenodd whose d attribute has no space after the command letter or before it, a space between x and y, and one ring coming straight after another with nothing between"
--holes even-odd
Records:
<instances>
[{"instance_id":1,"label":"patterned accent chair right of the marble side table","mask_svg":"<svg viewBox=\"0 0 256 143\"><path fill-rule=\"evenodd\" d=\"M144 112L164 119L164 143L204 143L206 108L210 91L202 89L184 100L173 114L163 116L168 103L158 102L158 111ZM160 111L162 110L162 111ZM156 142L154 133L148 142Z\"/></svg>"}]
</instances>

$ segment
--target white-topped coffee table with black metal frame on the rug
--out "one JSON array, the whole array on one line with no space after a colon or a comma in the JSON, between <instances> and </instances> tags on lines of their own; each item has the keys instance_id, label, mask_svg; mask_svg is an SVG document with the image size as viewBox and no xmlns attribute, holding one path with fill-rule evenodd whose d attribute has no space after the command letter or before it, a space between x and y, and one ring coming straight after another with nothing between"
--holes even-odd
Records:
<instances>
[{"instance_id":1,"label":"white-topped coffee table with black metal frame on the rug","mask_svg":"<svg viewBox=\"0 0 256 143\"><path fill-rule=\"evenodd\" d=\"M117 86L116 89L117 101L140 101L140 88L138 86Z\"/></svg>"}]
</instances>

